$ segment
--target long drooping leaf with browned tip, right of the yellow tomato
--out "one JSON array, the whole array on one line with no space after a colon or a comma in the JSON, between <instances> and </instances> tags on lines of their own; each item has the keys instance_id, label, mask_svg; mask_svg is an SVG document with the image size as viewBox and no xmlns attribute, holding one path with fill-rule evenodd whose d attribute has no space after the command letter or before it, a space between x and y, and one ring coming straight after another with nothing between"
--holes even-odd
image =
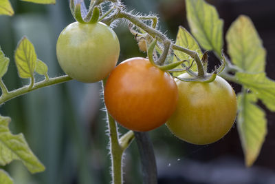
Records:
<instances>
[{"instance_id":1,"label":"long drooping leaf with browned tip, right of the yellow tomato","mask_svg":"<svg viewBox=\"0 0 275 184\"><path fill-rule=\"evenodd\" d=\"M243 92L238 95L237 127L245 154L245 165L248 167L259 156L267 134L265 112L255 104L256 101L257 98L254 94Z\"/></svg>"}]
</instances>

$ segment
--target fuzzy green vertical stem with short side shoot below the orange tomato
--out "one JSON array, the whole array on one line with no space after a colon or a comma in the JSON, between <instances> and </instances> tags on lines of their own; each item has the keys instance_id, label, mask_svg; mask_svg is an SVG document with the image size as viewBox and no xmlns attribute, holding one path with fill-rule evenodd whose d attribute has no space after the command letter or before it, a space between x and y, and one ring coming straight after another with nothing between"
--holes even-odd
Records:
<instances>
[{"instance_id":1,"label":"fuzzy green vertical stem with short side shoot below the orange tomato","mask_svg":"<svg viewBox=\"0 0 275 184\"><path fill-rule=\"evenodd\" d=\"M107 78L102 80L104 88ZM112 171L112 184L122 184L122 155L124 150L131 144L134 138L132 131L124 134L120 139L118 137L118 127L113 117L106 111L107 123L109 127L109 143L111 152L111 171Z\"/></svg>"}]
</instances>

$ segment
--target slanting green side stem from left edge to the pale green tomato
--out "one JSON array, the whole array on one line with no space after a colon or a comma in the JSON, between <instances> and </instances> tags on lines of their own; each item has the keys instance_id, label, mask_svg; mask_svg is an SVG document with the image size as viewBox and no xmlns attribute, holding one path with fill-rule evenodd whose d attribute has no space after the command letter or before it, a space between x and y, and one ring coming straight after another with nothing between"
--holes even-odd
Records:
<instances>
[{"instance_id":1,"label":"slanting green side stem from left edge to the pale green tomato","mask_svg":"<svg viewBox=\"0 0 275 184\"><path fill-rule=\"evenodd\" d=\"M54 85L54 84L58 84L58 83L63 83L65 81L69 81L72 80L71 77L64 75L64 76L58 76L58 77L54 77L52 79L48 79L48 80L44 80L38 83L34 83L33 87L30 88L30 85L25 85L22 88L19 88L17 90L13 90L11 92L8 93L3 93L0 96L0 105L2 105L3 103L5 103L6 101L9 101L10 99L14 99L17 96L21 96L22 94L26 94L28 92L31 92L33 90L37 90L39 88L43 88L49 85Z\"/></svg>"}]
</instances>

